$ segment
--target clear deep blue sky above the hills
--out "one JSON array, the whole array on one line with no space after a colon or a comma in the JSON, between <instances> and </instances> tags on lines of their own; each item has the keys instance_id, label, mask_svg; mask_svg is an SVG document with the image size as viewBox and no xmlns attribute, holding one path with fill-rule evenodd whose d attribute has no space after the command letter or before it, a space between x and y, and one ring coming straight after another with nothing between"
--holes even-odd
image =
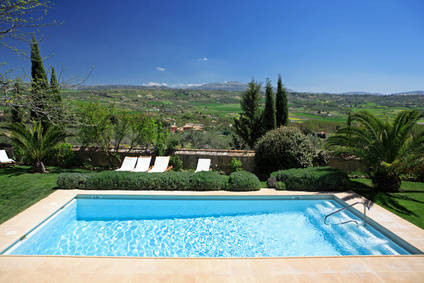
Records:
<instances>
[{"instance_id":1,"label":"clear deep blue sky above the hills","mask_svg":"<svg viewBox=\"0 0 424 283\"><path fill-rule=\"evenodd\" d=\"M283 83L298 91L424 89L424 1L56 1L42 56L86 84ZM25 47L27 48L27 47ZM27 58L0 49L16 73ZM5 67L3 67L4 69Z\"/></svg>"}]
</instances>

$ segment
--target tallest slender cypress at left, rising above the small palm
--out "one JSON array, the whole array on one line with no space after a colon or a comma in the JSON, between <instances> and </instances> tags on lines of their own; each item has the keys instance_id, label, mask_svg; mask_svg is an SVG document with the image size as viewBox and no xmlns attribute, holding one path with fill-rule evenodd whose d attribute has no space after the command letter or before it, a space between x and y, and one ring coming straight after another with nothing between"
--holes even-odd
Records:
<instances>
[{"instance_id":1,"label":"tallest slender cypress at left, rising above the small palm","mask_svg":"<svg viewBox=\"0 0 424 283\"><path fill-rule=\"evenodd\" d=\"M47 118L47 98L49 92L49 83L47 74L44 70L43 60L38 49L38 42L32 37L31 42L31 119L40 120L44 129L48 125Z\"/></svg>"}]
</instances>

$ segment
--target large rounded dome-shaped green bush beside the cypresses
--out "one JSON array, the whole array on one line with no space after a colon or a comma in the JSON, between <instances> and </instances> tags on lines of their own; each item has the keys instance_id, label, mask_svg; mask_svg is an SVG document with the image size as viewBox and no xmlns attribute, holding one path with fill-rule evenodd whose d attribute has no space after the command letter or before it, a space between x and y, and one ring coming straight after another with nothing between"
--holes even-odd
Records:
<instances>
[{"instance_id":1,"label":"large rounded dome-shaped green bush beside the cypresses","mask_svg":"<svg viewBox=\"0 0 424 283\"><path fill-rule=\"evenodd\" d=\"M260 178L276 170L312 166L315 154L309 139L298 128L284 126L262 136L255 151L255 171Z\"/></svg>"}]
</instances>

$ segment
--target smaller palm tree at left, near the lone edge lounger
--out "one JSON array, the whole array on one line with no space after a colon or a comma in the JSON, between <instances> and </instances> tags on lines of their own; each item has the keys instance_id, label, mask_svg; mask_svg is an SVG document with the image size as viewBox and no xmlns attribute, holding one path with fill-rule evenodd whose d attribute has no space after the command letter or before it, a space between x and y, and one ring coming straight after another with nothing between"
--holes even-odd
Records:
<instances>
[{"instance_id":1,"label":"smaller palm tree at left, near the lone edge lounger","mask_svg":"<svg viewBox=\"0 0 424 283\"><path fill-rule=\"evenodd\" d=\"M1 126L6 131L6 136L12 143L23 150L24 154L32 161L34 172L44 173L46 168L44 160L58 143L68 135L58 126L50 126L44 131L40 121L30 124L9 123Z\"/></svg>"}]
</instances>

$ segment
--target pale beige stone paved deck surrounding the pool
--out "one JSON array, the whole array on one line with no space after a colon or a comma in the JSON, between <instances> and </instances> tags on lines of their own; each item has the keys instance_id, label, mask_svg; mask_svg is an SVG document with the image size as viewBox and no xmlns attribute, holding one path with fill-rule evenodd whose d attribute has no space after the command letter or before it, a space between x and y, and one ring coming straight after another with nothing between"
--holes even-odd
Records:
<instances>
[{"instance_id":1,"label":"pale beige stone paved deck surrounding the pool","mask_svg":"<svg viewBox=\"0 0 424 283\"><path fill-rule=\"evenodd\" d=\"M257 192L57 190L0 225L6 249L78 194L126 195L335 195L351 204L353 193L262 189ZM362 212L360 206L356 207ZM424 230L370 203L367 216L421 251ZM290 258L129 258L0 255L0 282L424 282L424 255Z\"/></svg>"}]
</instances>

